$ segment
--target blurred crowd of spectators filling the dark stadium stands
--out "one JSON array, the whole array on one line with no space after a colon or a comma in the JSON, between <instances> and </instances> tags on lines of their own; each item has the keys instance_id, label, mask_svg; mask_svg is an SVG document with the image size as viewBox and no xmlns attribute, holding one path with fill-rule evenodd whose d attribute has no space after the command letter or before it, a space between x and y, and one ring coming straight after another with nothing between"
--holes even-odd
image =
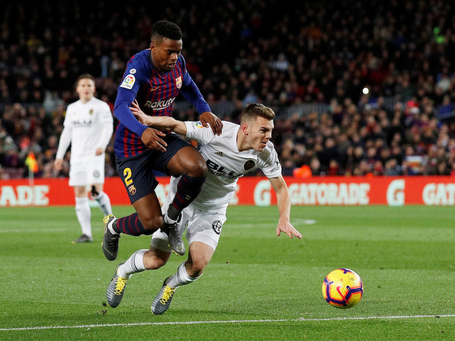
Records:
<instances>
[{"instance_id":1,"label":"blurred crowd of spectators filling the dark stadium stands","mask_svg":"<svg viewBox=\"0 0 455 341\"><path fill-rule=\"evenodd\" d=\"M36 177L68 176L68 162L59 173L52 162L66 106L77 100L75 79L93 74L97 97L113 109L125 63L148 48L150 27L160 19L183 30L182 54L207 102L232 106L221 118L237 121L251 102L276 111L272 141L283 175L305 167L312 175L455 176L453 4L299 6L290 10L278 0L171 0L121 10L103 1L89 8L75 1L6 4L0 178L27 176L30 151ZM326 106L302 111L308 103ZM176 108L178 119L197 117L193 108ZM115 176L112 145L106 155L106 176Z\"/></svg>"}]
</instances>

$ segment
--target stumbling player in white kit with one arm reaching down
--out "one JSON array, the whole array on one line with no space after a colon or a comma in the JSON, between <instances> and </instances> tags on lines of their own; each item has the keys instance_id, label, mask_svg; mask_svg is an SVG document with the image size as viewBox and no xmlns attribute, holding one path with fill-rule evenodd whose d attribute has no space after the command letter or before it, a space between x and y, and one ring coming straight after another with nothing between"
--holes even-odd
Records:
<instances>
[{"instance_id":1,"label":"stumbling player in white kit with one arm reaching down","mask_svg":"<svg viewBox=\"0 0 455 341\"><path fill-rule=\"evenodd\" d=\"M170 130L195 140L209 169L207 180L196 199L181 212L178 222L180 233L187 228L190 244L188 260L177 272L165 279L160 292L152 303L152 313L163 314L170 305L177 287L198 279L209 263L218 244L226 208L234 195L237 180L246 173L261 169L277 193L280 218L277 236L284 232L289 237L302 235L290 223L291 200L288 187L281 175L281 165L274 145L269 141L274 129L275 113L259 104L249 104L241 114L241 122L223 121L221 135L213 134L201 122L181 122L172 117L148 116L134 103L130 108L139 121L160 130ZM172 200L178 178L171 178L169 193L162 207ZM117 307L123 297L129 277L136 272L158 269L169 260L171 248L166 235L156 231L152 235L150 249L134 252L115 269L108 286L106 298L111 307Z\"/></svg>"}]
</instances>

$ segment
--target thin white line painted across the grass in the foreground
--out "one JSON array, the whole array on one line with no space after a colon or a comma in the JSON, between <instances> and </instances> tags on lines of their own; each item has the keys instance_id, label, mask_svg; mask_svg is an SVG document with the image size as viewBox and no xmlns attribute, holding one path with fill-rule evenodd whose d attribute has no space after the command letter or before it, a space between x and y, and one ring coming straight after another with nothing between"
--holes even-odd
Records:
<instances>
[{"instance_id":1,"label":"thin white line painted across the grass in the foreground","mask_svg":"<svg viewBox=\"0 0 455 341\"><path fill-rule=\"evenodd\" d=\"M137 323L108 323L108 324L82 324L75 326L40 326L40 327L21 327L21 328L0 328L4 331L13 330L42 330L42 329L69 329L69 328L96 328L96 327L132 327L132 326L157 326L168 324L202 324L202 323L254 323L254 322L304 322L304 321L340 321L340 320L374 320L374 319L410 319L425 317L455 317L451 315L405 315L405 316L365 316L365 317L332 317L323 319L279 319L279 320L226 320L226 321L174 321L174 322L137 322Z\"/></svg>"}]
</instances>

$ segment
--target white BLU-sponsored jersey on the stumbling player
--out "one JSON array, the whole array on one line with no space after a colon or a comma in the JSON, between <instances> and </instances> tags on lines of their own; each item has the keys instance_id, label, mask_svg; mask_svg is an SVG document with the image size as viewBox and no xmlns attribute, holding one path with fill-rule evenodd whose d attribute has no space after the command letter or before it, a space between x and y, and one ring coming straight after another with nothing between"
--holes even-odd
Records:
<instances>
[{"instance_id":1,"label":"white BLU-sponsored jersey on the stumbling player","mask_svg":"<svg viewBox=\"0 0 455 341\"><path fill-rule=\"evenodd\" d=\"M185 122L187 137L199 143L200 152L207 162L207 180L201 193L192 204L202 208L227 207L234 195L237 180L245 174L261 169L267 178L281 175L281 164L274 145L269 141L262 152L254 149L239 151L237 133L239 124L223 121L221 135L213 134L201 122ZM175 188L178 178L172 178L170 191Z\"/></svg>"}]
</instances>

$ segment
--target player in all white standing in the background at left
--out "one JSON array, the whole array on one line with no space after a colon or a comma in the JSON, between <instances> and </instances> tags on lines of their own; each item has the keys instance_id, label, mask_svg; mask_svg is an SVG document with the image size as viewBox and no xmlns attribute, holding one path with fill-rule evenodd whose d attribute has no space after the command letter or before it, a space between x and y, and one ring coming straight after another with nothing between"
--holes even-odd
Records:
<instances>
[{"instance_id":1,"label":"player in all white standing in the background at left","mask_svg":"<svg viewBox=\"0 0 455 341\"><path fill-rule=\"evenodd\" d=\"M114 130L111 109L95 98L95 79L85 73L76 80L79 100L68 105L54 167L62 169L63 157L71 143L69 185L74 188L76 216L82 235L73 243L92 242L92 212L88 205L87 185L104 215L112 214L111 201L103 192L106 147Z\"/></svg>"}]
</instances>

